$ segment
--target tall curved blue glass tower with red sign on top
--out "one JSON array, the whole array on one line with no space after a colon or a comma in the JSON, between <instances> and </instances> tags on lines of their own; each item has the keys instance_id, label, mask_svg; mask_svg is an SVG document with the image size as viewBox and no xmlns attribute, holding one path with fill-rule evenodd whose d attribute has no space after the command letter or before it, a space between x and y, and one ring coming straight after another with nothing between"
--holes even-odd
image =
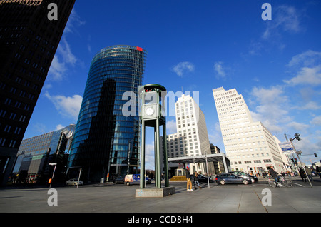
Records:
<instances>
[{"instance_id":1,"label":"tall curved blue glass tower with red sign on top","mask_svg":"<svg viewBox=\"0 0 321 227\"><path fill-rule=\"evenodd\" d=\"M147 52L137 46L109 46L91 61L68 160L70 177L81 168L83 181L112 180L138 167L140 123L138 86ZM136 94L136 116L124 116L126 91ZM131 99L133 100L133 99Z\"/></svg>"}]
</instances>

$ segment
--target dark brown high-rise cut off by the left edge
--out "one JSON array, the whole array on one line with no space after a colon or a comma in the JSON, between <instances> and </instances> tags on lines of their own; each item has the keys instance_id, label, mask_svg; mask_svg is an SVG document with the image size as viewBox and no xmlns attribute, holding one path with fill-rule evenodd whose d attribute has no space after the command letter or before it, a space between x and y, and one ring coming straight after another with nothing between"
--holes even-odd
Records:
<instances>
[{"instance_id":1,"label":"dark brown high-rise cut off by the left edge","mask_svg":"<svg viewBox=\"0 0 321 227\"><path fill-rule=\"evenodd\" d=\"M49 7L52 3L57 7ZM75 0L0 0L2 185L12 170L74 3ZM56 19L52 19L55 11L51 10L56 10Z\"/></svg>"}]
</instances>

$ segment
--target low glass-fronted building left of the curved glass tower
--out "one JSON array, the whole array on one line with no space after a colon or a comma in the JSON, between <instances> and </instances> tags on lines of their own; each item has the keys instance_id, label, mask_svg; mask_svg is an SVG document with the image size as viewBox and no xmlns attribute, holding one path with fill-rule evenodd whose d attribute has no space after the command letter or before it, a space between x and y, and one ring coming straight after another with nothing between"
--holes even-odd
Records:
<instances>
[{"instance_id":1,"label":"low glass-fronted building left of the curved glass tower","mask_svg":"<svg viewBox=\"0 0 321 227\"><path fill-rule=\"evenodd\" d=\"M71 124L56 131L26 138L21 142L10 181L12 183L66 182L68 151L76 125Z\"/></svg>"}]
</instances>

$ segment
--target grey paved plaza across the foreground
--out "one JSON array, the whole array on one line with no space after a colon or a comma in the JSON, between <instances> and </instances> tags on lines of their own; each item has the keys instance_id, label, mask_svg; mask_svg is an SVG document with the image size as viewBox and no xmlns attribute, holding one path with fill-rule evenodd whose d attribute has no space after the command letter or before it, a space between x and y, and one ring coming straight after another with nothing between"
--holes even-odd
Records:
<instances>
[{"instance_id":1,"label":"grey paved plaza across the foreground","mask_svg":"<svg viewBox=\"0 0 321 227\"><path fill-rule=\"evenodd\" d=\"M175 194L163 198L136 198L138 185L112 183L79 186L0 188L1 213L320 213L321 181L312 187L299 178L292 188L271 188L264 178L250 185L202 183L186 191L185 182L170 182ZM154 188L153 183L147 186ZM52 191L53 191L52 190ZM270 197L267 194L269 192ZM49 206L51 203L52 206Z\"/></svg>"}]
</instances>

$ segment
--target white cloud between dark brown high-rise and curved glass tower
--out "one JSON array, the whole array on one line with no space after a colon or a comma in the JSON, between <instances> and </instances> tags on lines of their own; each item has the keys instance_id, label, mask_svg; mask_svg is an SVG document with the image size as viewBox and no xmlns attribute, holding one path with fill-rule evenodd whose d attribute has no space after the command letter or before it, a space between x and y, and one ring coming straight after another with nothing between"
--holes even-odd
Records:
<instances>
[{"instance_id":1,"label":"white cloud between dark brown high-rise and curved glass tower","mask_svg":"<svg viewBox=\"0 0 321 227\"><path fill-rule=\"evenodd\" d=\"M48 91L46 91L45 96L52 101L59 114L77 120L83 99L81 96L51 96Z\"/></svg>"}]
</instances>

